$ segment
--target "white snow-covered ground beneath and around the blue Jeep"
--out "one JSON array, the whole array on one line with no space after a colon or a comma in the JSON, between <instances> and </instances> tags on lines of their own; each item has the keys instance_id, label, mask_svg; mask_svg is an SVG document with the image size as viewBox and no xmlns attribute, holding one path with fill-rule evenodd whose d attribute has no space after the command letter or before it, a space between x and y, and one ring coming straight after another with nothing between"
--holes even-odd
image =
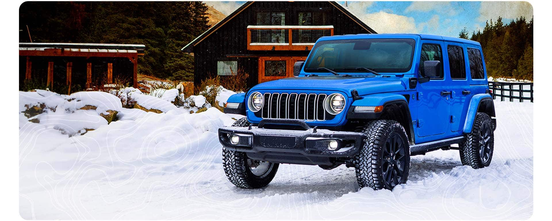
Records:
<instances>
[{"instance_id":1,"label":"white snow-covered ground beneath and around the blue Jeep","mask_svg":"<svg viewBox=\"0 0 552 221\"><path fill-rule=\"evenodd\" d=\"M235 115L216 108L157 114L117 106L121 119L91 123L102 122L95 112L109 107L98 106L105 107L76 110L65 121L55 113L40 123L19 115L23 218L527 219L533 212L529 102L495 101L490 167L462 166L457 150L413 156L408 182L392 192L358 190L354 170L345 166L300 165L281 165L266 188L243 190L226 180L216 135ZM95 130L60 133L59 125L76 124Z\"/></svg>"}]
</instances>

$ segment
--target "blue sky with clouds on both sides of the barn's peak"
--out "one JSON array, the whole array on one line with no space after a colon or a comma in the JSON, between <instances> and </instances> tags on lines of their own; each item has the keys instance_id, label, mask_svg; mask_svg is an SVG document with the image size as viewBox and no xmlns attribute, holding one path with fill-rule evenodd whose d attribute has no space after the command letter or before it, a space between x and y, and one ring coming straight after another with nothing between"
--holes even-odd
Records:
<instances>
[{"instance_id":1,"label":"blue sky with clouds on both sides of the barn's peak","mask_svg":"<svg viewBox=\"0 0 552 221\"><path fill-rule=\"evenodd\" d=\"M230 14L244 2L205 2ZM344 1L338 3L345 5ZM485 27L486 20L519 16L530 20L533 7L527 2L351 2L348 9L378 33L426 33L458 36Z\"/></svg>"}]
</instances>

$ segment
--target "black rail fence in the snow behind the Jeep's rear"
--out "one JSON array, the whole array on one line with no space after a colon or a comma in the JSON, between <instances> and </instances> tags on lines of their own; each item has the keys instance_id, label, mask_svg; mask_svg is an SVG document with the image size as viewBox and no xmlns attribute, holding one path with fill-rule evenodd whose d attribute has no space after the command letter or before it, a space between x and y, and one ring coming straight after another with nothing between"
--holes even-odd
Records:
<instances>
[{"instance_id":1,"label":"black rail fence in the snow behind the Jeep's rear","mask_svg":"<svg viewBox=\"0 0 552 221\"><path fill-rule=\"evenodd\" d=\"M529 100L533 102L533 83L523 82L489 82L489 89L492 90L492 99L500 97L500 101Z\"/></svg>"}]
</instances>

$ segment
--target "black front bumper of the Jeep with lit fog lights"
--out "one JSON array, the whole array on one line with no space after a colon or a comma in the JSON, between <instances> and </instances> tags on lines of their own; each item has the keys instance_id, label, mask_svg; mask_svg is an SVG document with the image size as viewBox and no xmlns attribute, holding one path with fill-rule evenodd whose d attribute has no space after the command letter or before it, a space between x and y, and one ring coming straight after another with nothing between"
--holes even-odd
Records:
<instances>
[{"instance_id":1,"label":"black front bumper of the Jeep with lit fog lights","mask_svg":"<svg viewBox=\"0 0 552 221\"><path fill-rule=\"evenodd\" d=\"M231 143L231 135L239 136L238 143ZM316 128L282 130L224 127L219 129L219 141L226 149L247 152L247 156L253 160L284 164L333 165L338 157L352 157L357 154L363 145L364 138L362 133ZM332 140L337 141L338 144L335 150L328 149Z\"/></svg>"}]
</instances>

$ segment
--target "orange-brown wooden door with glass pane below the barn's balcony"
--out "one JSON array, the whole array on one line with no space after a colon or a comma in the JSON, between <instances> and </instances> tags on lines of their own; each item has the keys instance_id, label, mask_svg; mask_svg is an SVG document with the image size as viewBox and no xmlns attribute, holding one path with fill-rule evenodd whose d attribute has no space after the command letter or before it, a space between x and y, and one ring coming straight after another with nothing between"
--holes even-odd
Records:
<instances>
[{"instance_id":1,"label":"orange-brown wooden door with glass pane below the barn's balcony","mask_svg":"<svg viewBox=\"0 0 552 221\"><path fill-rule=\"evenodd\" d=\"M293 65L307 57L259 57L259 83L293 77Z\"/></svg>"}]
</instances>

